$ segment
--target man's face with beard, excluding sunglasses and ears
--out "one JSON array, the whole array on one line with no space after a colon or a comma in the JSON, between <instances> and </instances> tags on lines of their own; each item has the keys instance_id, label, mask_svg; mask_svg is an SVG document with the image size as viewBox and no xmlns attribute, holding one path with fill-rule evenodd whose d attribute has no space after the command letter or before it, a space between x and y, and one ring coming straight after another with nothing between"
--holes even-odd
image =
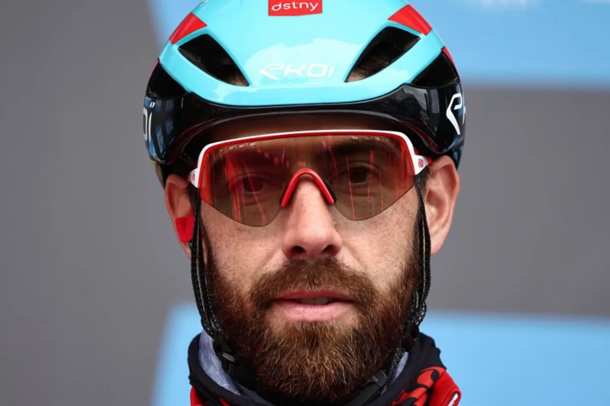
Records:
<instances>
[{"instance_id":1,"label":"man's face with beard, excluding sunglasses and ears","mask_svg":"<svg viewBox=\"0 0 610 406\"><path fill-rule=\"evenodd\" d=\"M385 129L353 117L284 117L225 125L212 139L330 128ZM414 187L381 214L348 220L307 177L267 226L201 204L215 311L262 383L318 404L344 400L387 362L417 283L417 212Z\"/></svg>"}]
</instances>

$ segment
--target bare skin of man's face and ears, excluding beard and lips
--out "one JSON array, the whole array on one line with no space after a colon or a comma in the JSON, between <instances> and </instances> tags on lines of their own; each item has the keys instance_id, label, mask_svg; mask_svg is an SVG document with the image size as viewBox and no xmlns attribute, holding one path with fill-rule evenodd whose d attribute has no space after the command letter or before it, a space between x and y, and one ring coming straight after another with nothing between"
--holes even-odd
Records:
<instances>
[{"instance_id":1,"label":"bare skin of man's face and ears, excluding beard and lips","mask_svg":"<svg viewBox=\"0 0 610 406\"><path fill-rule=\"evenodd\" d=\"M371 117L264 117L218 126L210 134L210 141L281 131L343 128L392 129ZM453 161L447 156L436 159L429 169L424 201L434 255L442 248L451 228L460 181ZM167 180L165 201L174 225L179 217L192 214L188 184L177 175L171 175ZM376 292L383 295L400 283L407 267L405 253L414 250L417 209L417 190L413 187L375 217L351 221L328 205L310 178L302 177L289 206L267 226L242 225L205 203L201 205L201 218L217 271L240 298L248 298L256 281L277 273L287 261L306 259L313 262L324 257L336 257L346 267L365 275ZM190 257L188 245L181 245ZM248 306L248 299L244 303ZM246 310L254 312L254 306ZM284 331L282 327L292 321L281 306L271 307L265 320L279 334ZM358 321L356 306L346 304L332 323L349 330L357 326ZM396 328L401 327L397 325Z\"/></svg>"}]
</instances>

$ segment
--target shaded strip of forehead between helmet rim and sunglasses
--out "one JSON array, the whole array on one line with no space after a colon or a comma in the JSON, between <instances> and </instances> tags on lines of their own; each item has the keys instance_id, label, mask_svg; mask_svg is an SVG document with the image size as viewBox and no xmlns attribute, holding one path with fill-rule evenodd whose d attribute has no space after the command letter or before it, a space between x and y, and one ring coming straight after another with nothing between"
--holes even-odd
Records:
<instances>
[{"instance_id":1,"label":"shaded strip of forehead between helmet rim and sunglasses","mask_svg":"<svg viewBox=\"0 0 610 406\"><path fill-rule=\"evenodd\" d=\"M210 131L210 142L246 136L308 130L392 130L389 123L375 117L346 114L289 114L228 122Z\"/></svg>"}]
</instances>

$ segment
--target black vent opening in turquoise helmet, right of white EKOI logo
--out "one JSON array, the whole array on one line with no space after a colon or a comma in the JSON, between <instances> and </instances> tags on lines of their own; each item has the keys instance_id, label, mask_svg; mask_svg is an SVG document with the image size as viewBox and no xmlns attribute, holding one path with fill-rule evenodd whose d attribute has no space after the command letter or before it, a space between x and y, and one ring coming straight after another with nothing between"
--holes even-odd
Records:
<instances>
[{"instance_id":1,"label":"black vent opening in turquoise helmet, right of white EKOI logo","mask_svg":"<svg viewBox=\"0 0 610 406\"><path fill-rule=\"evenodd\" d=\"M397 27L384 28L364 49L345 81L354 82L381 72L406 54L418 40L417 35L406 30Z\"/></svg>"}]
</instances>

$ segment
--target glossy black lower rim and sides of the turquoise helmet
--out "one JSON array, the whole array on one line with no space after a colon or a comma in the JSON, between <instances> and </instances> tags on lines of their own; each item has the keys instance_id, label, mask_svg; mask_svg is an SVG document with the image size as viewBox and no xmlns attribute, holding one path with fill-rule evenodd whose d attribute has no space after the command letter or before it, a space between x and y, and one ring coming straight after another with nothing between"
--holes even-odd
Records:
<instances>
[{"instance_id":1,"label":"glossy black lower rim and sides of the turquoise helmet","mask_svg":"<svg viewBox=\"0 0 610 406\"><path fill-rule=\"evenodd\" d=\"M459 96L458 96L459 95ZM403 85L375 99L349 103L239 107L220 105L188 93L157 63L153 69L144 103L144 131L150 158L158 165L163 184L181 159L193 163L198 150L188 142L215 125L244 119L284 114L340 113L377 117L408 127L419 135L412 139L422 155L434 159L450 156L456 167L464 147L464 99L462 85L445 54L431 63L411 85ZM456 107L462 105L456 110ZM453 116L454 124L450 121ZM459 131L456 131L457 125ZM201 144L197 143L196 149Z\"/></svg>"}]
</instances>

